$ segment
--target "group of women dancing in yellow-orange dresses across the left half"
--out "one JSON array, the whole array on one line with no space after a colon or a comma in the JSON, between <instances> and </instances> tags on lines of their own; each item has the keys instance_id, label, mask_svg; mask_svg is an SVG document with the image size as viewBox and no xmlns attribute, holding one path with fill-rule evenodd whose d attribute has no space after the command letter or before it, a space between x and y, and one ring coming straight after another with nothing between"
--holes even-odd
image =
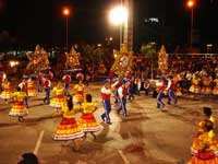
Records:
<instances>
[{"instance_id":1,"label":"group of women dancing in yellow-orange dresses across the left half","mask_svg":"<svg viewBox=\"0 0 218 164\"><path fill-rule=\"evenodd\" d=\"M52 86L51 79L48 75L43 78L41 84L45 89L44 103L56 108L57 113L62 115L62 120L52 134L53 140L72 140L74 149L78 150L78 139L86 137L88 132L96 139L94 132L102 130L102 126L96 121L94 116L94 112L98 106L93 102L93 96L84 94L83 74L76 74L76 79L78 83L73 87L76 91L73 95L68 91L71 82L71 75L68 73L62 78L62 82L58 82L55 86ZM38 91L40 92L40 90ZM51 97L50 92L52 93ZM17 117L19 121L24 121L24 116L28 115L28 99L36 95L35 82L31 77L24 77L15 92L12 92L8 79L4 79L2 82L0 97L7 103L12 98L13 105L9 116ZM77 120L75 119L76 113L81 113L81 117Z\"/></svg>"}]
</instances>

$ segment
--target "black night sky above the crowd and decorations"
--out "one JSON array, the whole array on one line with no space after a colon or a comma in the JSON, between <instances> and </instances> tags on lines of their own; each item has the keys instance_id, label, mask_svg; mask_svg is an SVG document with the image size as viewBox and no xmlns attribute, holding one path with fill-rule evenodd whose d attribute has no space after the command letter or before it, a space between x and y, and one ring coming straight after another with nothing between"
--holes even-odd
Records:
<instances>
[{"instance_id":1,"label":"black night sky above the crowd and decorations","mask_svg":"<svg viewBox=\"0 0 218 164\"><path fill-rule=\"evenodd\" d=\"M63 46L65 19L63 5L72 7L69 44L104 43L119 30L108 21L109 9L120 0L0 0L0 48L3 46ZM186 45L191 12L184 0L134 0L134 47L156 40L166 45ZM194 9L196 45L218 44L218 0L197 0ZM158 24L145 23L158 17Z\"/></svg>"}]
</instances>

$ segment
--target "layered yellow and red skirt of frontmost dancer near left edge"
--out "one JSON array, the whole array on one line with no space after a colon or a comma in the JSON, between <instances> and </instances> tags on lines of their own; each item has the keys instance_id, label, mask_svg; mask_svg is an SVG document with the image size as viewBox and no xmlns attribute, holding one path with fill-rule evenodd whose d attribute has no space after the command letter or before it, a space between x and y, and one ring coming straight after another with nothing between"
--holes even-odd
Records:
<instances>
[{"instance_id":1,"label":"layered yellow and red skirt of frontmost dancer near left edge","mask_svg":"<svg viewBox=\"0 0 218 164\"><path fill-rule=\"evenodd\" d=\"M9 113L9 116L19 117L28 115L26 105L23 102L15 102Z\"/></svg>"}]
</instances>

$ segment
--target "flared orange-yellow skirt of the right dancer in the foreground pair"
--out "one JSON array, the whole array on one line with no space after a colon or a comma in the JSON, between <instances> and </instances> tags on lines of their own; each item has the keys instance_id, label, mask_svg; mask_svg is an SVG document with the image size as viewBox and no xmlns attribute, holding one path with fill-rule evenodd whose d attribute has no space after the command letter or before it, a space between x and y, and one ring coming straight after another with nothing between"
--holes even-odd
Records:
<instances>
[{"instance_id":1,"label":"flared orange-yellow skirt of the right dancer in the foreground pair","mask_svg":"<svg viewBox=\"0 0 218 164\"><path fill-rule=\"evenodd\" d=\"M96 132L102 130L102 127L97 124L93 114L83 114L78 119L78 124L85 132Z\"/></svg>"}]
</instances>

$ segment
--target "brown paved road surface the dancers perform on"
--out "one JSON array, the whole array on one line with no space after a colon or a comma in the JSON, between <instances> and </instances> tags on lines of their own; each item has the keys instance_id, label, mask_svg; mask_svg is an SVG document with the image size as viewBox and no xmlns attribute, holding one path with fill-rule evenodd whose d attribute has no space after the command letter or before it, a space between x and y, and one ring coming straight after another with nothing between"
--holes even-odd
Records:
<instances>
[{"instance_id":1,"label":"brown paved road surface the dancers perform on","mask_svg":"<svg viewBox=\"0 0 218 164\"><path fill-rule=\"evenodd\" d=\"M99 85L92 85L92 93L99 103L95 116L104 112ZM104 130L83 141L82 150L73 151L71 143L53 141L51 136L61 117L52 117L55 110L43 104L44 94L31 99L29 115L24 122L8 116L10 104L0 102L0 164L14 164L25 152L37 152L45 164L175 164L190 159L190 145L196 132L203 106L214 108L216 101L181 98L177 106L156 108L152 96L136 96L128 102L128 118L118 116L112 105L112 125L101 122ZM80 117L80 114L76 115Z\"/></svg>"}]
</instances>

